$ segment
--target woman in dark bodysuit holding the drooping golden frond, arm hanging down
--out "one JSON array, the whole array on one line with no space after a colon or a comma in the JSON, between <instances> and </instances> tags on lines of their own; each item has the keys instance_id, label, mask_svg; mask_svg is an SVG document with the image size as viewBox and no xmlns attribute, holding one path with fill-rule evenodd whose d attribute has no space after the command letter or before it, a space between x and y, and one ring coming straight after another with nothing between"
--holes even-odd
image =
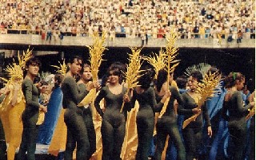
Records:
<instances>
[{"instance_id":1,"label":"woman in dark bodysuit holding the drooping golden frond, arm hanging down","mask_svg":"<svg viewBox=\"0 0 256 160\"><path fill-rule=\"evenodd\" d=\"M201 72L191 72L190 78L188 80L190 89L182 94L184 103L183 105L179 105L180 109L178 110L178 114L184 115L184 120L189 119L192 115L201 111L201 114L198 115L198 118L182 130L182 135L186 147L186 160L193 160L198 156L198 148L202 141L202 119L205 119L206 121L208 135L210 137L212 135L210 117L206 105L203 105L202 109L196 108L200 96L198 93L194 92L194 88L200 80L202 80Z\"/></svg>"}]
</instances>

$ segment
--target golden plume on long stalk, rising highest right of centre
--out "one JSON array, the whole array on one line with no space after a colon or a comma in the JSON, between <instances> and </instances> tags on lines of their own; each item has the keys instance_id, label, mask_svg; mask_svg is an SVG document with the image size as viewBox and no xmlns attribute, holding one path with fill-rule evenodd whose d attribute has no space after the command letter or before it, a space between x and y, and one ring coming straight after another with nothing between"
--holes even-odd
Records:
<instances>
[{"instance_id":1,"label":"golden plume on long stalk, rising highest right of centre","mask_svg":"<svg viewBox=\"0 0 256 160\"><path fill-rule=\"evenodd\" d=\"M174 72L174 68L176 68L179 64L179 60L174 60L175 57L178 56L178 47L174 47L174 43L178 38L178 33L174 32L174 29L170 30L170 35L166 37L166 60L167 60L167 72L168 72L168 78L167 78L167 84L169 86L169 77L170 72ZM172 64L172 65L171 65ZM170 97L166 99L166 102L164 103L162 110L160 111L160 114L158 118L161 118L162 115L166 112L167 105L170 101Z\"/></svg>"}]
</instances>

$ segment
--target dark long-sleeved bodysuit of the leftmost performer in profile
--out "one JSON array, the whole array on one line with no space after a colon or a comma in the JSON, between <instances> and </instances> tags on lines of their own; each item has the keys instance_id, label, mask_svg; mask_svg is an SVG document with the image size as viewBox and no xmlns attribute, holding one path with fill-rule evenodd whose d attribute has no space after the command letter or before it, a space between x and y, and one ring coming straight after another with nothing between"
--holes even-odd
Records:
<instances>
[{"instance_id":1,"label":"dark long-sleeved bodysuit of the leftmost performer in profile","mask_svg":"<svg viewBox=\"0 0 256 160\"><path fill-rule=\"evenodd\" d=\"M33 82L25 78L22 82L22 92L26 100L26 107L22 113L22 142L18 150L18 160L24 159L27 151L27 159L34 160L34 152L36 149L36 140L38 136L39 103L38 88Z\"/></svg>"}]
</instances>

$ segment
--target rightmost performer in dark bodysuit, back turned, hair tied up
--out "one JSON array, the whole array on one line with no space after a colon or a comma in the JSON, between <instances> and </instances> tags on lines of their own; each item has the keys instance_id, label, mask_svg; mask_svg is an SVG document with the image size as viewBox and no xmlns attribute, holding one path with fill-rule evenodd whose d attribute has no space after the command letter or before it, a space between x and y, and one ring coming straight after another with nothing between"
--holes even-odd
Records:
<instances>
[{"instance_id":1,"label":"rightmost performer in dark bodysuit, back turned, hair tied up","mask_svg":"<svg viewBox=\"0 0 256 160\"><path fill-rule=\"evenodd\" d=\"M242 92L240 92L245 83L245 76L240 72L230 72L225 79L228 92L224 98L222 116L228 121L230 137L234 142L233 160L241 160L244 158L243 153L246 147L246 115L248 109L255 105L255 102L250 102L244 106L242 100ZM226 112L229 115L226 115Z\"/></svg>"}]
</instances>

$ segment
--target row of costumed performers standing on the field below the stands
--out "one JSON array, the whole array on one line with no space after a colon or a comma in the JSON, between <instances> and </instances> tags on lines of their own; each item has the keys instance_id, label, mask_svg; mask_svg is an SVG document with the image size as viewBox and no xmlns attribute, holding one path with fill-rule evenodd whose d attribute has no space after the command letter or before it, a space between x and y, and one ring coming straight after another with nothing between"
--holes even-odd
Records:
<instances>
[{"instance_id":1,"label":"row of costumed performers standing on the field below the stands","mask_svg":"<svg viewBox=\"0 0 256 160\"><path fill-rule=\"evenodd\" d=\"M8 160L14 160L19 144L18 160L24 159L25 154L27 159L34 160L36 142L58 145L52 141L56 137L62 139L62 136L66 136L66 160L73 158L75 148L78 160L119 160L126 154L123 152L129 150L123 150L124 143L127 145L134 136L138 142L128 146L137 148L133 154L129 154L129 158L136 160L162 159L166 142L168 148L164 159L254 158L252 111L255 109L255 84L254 80L247 80L242 73L222 75L219 69L210 67L206 72L194 69L188 76L178 76L174 80L174 72L168 73L166 68L156 72L153 66L145 64L139 73L138 85L127 90L124 64L110 64L99 84L92 79L90 65L83 61L78 56L70 57L66 73L58 72L38 80L40 61L30 57L26 60L25 72L20 74L25 78L17 74L11 77L12 81L2 88L0 96L0 124L3 125L0 128L0 142L5 146L0 150L1 159L6 158L5 142L9 144ZM215 75L220 85L213 88L216 95L198 107L202 95L196 92L196 88L206 75ZM95 94L92 94L93 90ZM23 106L22 111L20 106ZM163 114L155 116L165 106ZM63 115L61 110L64 111ZM134 111L136 116L130 119ZM17 116L13 117L10 113ZM42 113L46 115L44 122L38 123ZM59 115L63 116L66 134L54 133L56 123L61 119ZM183 121L193 115L198 116L183 127ZM18 119L22 119L22 123ZM95 121L100 122L100 130L96 129ZM135 128L130 127L131 123ZM14 133L17 128L18 133ZM126 137L134 129L137 129L137 134ZM97 144L98 132L101 133L101 145ZM16 141L12 142L10 136L16 136ZM98 151L100 148L102 154ZM155 149L150 153L152 148Z\"/></svg>"}]
</instances>

